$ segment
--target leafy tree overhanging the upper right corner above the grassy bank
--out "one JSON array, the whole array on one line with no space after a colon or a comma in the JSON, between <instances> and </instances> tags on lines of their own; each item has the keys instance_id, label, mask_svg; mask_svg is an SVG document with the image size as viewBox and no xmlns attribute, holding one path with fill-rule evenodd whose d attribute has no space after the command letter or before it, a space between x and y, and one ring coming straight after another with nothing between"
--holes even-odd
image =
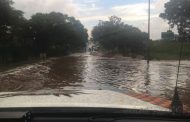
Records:
<instances>
[{"instance_id":1,"label":"leafy tree overhanging the upper right corner above the grassy bank","mask_svg":"<svg viewBox=\"0 0 190 122\"><path fill-rule=\"evenodd\" d=\"M168 20L173 28L177 26L181 37L190 39L190 1L189 0L170 0L165 4L165 12L160 17Z\"/></svg>"}]
</instances>

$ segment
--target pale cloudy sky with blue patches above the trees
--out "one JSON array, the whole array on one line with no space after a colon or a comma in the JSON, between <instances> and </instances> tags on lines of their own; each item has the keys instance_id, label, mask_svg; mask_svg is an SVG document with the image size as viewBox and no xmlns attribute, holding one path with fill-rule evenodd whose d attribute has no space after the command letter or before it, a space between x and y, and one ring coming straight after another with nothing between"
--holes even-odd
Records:
<instances>
[{"instance_id":1,"label":"pale cloudy sky with blue patches above the trees","mask_svg":"<svg viewBox=\"0 0 190 122\"><path fill-rule=\"evenodd\" d=\"M116 15L126 23L147 32L148 0L13 0L14 7L24 11L30 18L36 12L61 12L79 19L89 34L98 20L108 20ZM167 21L159 18L168 0L151 0L151 38L160 39L161 32L167 31Z\"/></svg>"}]
</instances>

